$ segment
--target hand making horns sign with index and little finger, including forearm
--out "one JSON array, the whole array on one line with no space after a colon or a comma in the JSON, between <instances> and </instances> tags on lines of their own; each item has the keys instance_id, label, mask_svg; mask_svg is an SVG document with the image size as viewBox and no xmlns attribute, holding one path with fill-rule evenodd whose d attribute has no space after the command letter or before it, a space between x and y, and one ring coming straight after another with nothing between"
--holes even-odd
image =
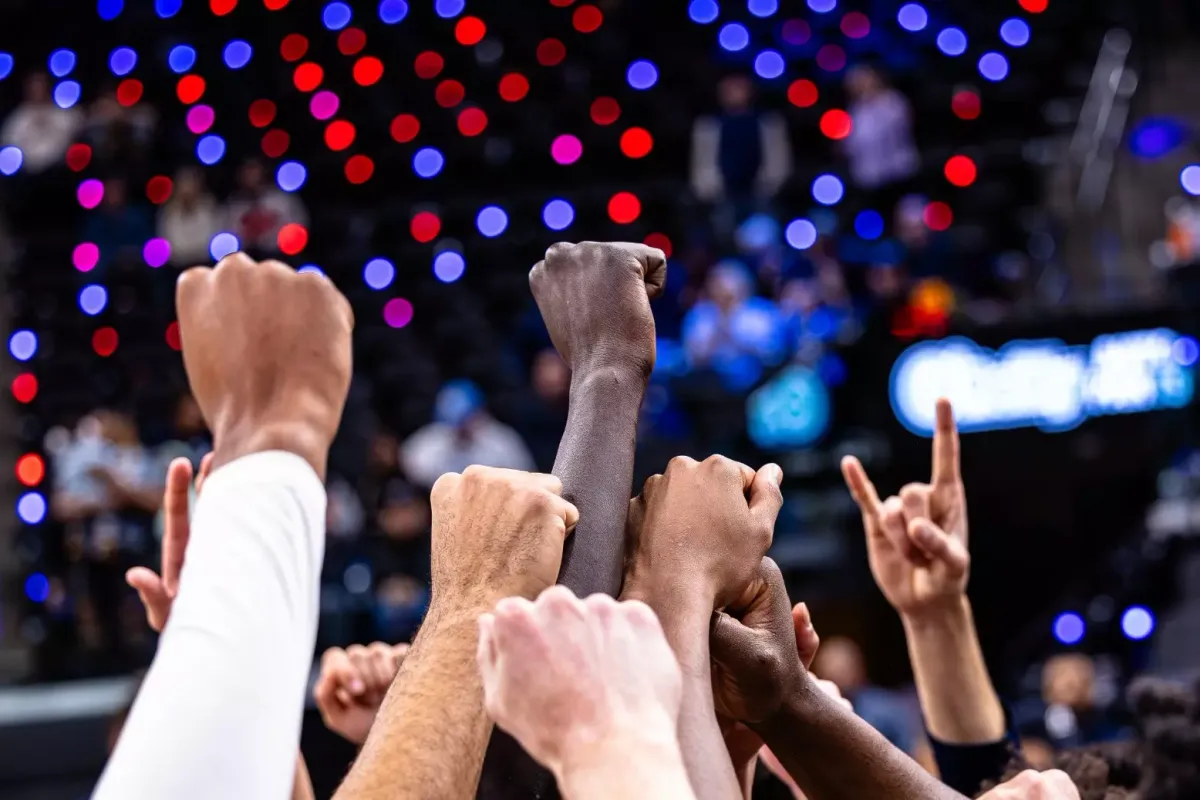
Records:
<instances>
[{"instance_id":1,"label":"hand making horns sign with index and little finger, including forearm","mask_svg":"<svg viewBox=\"0 0 1200 800\"><path fill-rule=\"evenodd\" d=\"M871 573L905 626L929 733L956 745L1002 740L1004 710L966 596L966 491L949 402L937 402L929 483L910 483L881 503L858 459L842 461L842 473L863 512Z\"/></svg>"}]
</instances>

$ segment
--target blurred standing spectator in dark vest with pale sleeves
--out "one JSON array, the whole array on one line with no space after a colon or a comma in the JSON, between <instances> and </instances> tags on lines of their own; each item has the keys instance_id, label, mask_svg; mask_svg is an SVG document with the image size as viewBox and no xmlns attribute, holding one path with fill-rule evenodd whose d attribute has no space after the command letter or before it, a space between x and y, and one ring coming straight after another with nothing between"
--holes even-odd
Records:
<instances>
[{"instance_id":1,"label":"blurred standing spectator in dark vest with pale sleeves","mask_svg":"<svg viewBox=\"0 0 1200 800\"><path fill-rule=\"evenodd\" d=\"M691 187L716 206L718 229L728 235L791 176L792 145L782 118L755 104L749 76L724 78L716 100L720 110L692 126Z\"/></svg>"}]
</instances>

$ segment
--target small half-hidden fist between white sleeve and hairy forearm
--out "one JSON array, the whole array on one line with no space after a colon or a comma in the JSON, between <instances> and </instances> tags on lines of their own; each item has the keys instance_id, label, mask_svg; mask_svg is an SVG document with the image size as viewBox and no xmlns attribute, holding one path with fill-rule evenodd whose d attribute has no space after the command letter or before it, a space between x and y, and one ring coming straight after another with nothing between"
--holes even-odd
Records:
<instances>
[{"instance_id":1,"label":"small half-hidden fist between white sleeve and hairy forearm","mask_svg":"<svg viewBox=\"0 0 1200 800\"><path fill-rule=\"evenodd\" d=\"M366 741L379 705L407 655L407 644L383 642L325 650L320 657L320 675L312 688L325 727L355 745Z\"/></svg>"}]
</instances>

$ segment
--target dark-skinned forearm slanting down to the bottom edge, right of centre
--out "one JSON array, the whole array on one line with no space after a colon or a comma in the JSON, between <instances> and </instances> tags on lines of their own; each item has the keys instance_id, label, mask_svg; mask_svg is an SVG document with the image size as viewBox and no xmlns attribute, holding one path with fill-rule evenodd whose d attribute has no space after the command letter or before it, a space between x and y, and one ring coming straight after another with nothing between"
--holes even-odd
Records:
<instances>
[{"instance_id":1,"label":"dark-skinned forearm slanting down to the bottom edge, right of centre","mask_svg":"<svg viewBox=\"0 0 1200 800\"><path fill-rule=\"evenodd\" d=\"M752 727L810 798L962 798L821 691L811 676L784 710Z\"/></svg>"}]
</instances>

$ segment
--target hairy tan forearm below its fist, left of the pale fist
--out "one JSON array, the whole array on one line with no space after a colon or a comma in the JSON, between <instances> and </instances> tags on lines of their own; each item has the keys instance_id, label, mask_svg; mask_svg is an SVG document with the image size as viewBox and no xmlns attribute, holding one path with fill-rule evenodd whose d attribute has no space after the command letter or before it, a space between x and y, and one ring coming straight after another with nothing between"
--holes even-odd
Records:
<instances>
[{"instance_id":1,"label":"hairy tan forearm below its fist, left of the pale fist","mask_svg":"<svg viewBox=\"0 0 1200 800\"><path fill-rule=\"evenodd\" d=\"M434 604L335 798L460 800L475 795L492 722L475 650L484 608Z\"/></svg>"}]
</instances>

